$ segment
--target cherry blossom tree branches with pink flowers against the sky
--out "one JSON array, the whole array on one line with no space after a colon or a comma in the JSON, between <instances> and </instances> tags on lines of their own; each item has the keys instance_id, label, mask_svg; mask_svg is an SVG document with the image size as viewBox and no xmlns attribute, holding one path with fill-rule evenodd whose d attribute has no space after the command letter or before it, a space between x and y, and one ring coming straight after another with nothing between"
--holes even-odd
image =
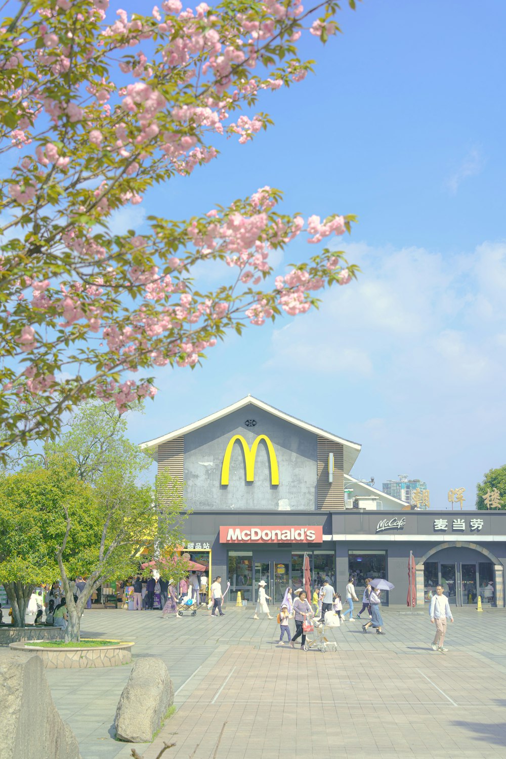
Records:
<instances>
[{"instance_id":1,"label":"cherry blossom tree branches with pink flowers against the sky","mask_svg":"<svg viewBox=\"0 0 506 759\"><path fill-rule=\"evenodd\" d=\"M272 283L272 250L299 235L319 245L354 221L280 213L272 187L184 221L149 216L143 234L110 228L150 187L216 159L220 140L247 143L268 128L259 94L306 77L297 41L335 34L338 3L183 10L164 0L150 15L116 18L108 5L2 5L11 13L0 21L3 455L56 435L62 412L83 399L114 399L121 411L152 397L153 367L194 367L231 329L306 313L317 291L357 272L343 251L320 247ZM231 269L212 291L192 276L202 261ZM24 414L34 396L39 413Z\"/></svg>"}]
</instances>

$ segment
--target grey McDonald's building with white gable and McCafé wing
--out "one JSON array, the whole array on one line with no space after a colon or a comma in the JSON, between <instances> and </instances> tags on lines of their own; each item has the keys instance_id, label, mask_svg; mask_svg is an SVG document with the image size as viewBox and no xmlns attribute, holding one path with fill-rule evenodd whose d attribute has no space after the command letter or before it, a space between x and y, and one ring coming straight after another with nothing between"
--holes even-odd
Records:
<instances>
[{"instance_id":1,"label":"grey McDonald's building with white gable and McCaf\u00e9 wing","mask_svg":"<svg viewBox=\"0 0 506 759\"><path fill-rule=\"evenodd\" d=\"M411 551L417 606L437 584L455 605L504 606L506 512L409 510L350 474L359 443L251 395L141 448L181 480L184 550L230 581L232 600L255 600L263 579L279 603L303 584L308 553L312 577L328 576L343 600L352 574L357 595L384 577L395 586L384 603L406 604Z\"/></svg>"}]
</instances>

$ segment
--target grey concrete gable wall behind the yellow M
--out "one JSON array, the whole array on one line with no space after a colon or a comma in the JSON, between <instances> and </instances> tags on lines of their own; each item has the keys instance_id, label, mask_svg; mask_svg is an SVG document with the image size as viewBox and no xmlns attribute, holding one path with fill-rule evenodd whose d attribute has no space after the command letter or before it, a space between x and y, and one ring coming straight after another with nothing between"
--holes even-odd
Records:
<instances>
[{"instance_id":1,"label":"grey concrete gable wall behind the yellow M","mask_svg":"<svg viewBox=\"0 0 506 759\"><path fill-rule=\"evenodd\" d=\"M254 427L245 424L250 419L256 421ZM258 446L252 483L246 481L242 446L234 443L229 484L222 486L223 457L234 435L242 435L250 447L256 436L269 437L278 459L278 486L271 484L265 442ZM184 493L187 505L195 510L316 509L316 455L316 435L255 406L234 411L185 436Z\"/></svg>"}]
</instances>

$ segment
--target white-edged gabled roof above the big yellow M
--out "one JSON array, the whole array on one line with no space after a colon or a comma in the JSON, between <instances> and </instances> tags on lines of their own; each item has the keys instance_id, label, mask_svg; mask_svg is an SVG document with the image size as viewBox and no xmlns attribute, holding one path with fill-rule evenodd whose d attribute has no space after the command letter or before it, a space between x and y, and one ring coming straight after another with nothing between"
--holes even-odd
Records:
<instances>
[{"instance_id":1,"label":"white-edged gabled roof above the big yellow M","mask_svg":"<svg viewBox=\"0 0 506 759\"><path fill-rule=\"evenodd\" d=\"M351 442L351 440L345 440L342 437L338 437L337 435L326 432L326 430L321 430L319 427L315 427L313 424L307 424L307 422L303 422L296 417L291 417L290 414L285 414L284 411L279 411L278 408L274 408L274 406L270 406L268 403L259 401L258 398L253 398L253 395L247 395L245 398L241 398L240 401L227 406L227 408L222 408L221 411L215 411L215 413L210 414L209 417L204 417L203 419L193 422L192 424L188 424L187 427L181 427L180 430L174 430L174 432L169 432L167 435L162 435L161 437L156 437L153 440L142 442L140 444L140 448L158 448L162 442L172 440L174 437L181 437L187 433L193 432L193 430L198 430L200 427L206 427L207 424L210 424L217 419L222 419L222 417L228 416L228 414L231 414L233 411L237 411L238 409L244 408L244 406L248 405L253 405L257 408L261 408L262 411L267 411L269 414L272 414L275 417L279 417L280 419L283 419L290 424L294 424L296 427L301 427L303 430L311 432L314 435L325 437L326 439L332 440L333 442L340 442L343 446L345 472L349 472L355 461L357 461L357 456L359 455L360 449L362 448L359 442Z\"/></svg>"}]
</instances>

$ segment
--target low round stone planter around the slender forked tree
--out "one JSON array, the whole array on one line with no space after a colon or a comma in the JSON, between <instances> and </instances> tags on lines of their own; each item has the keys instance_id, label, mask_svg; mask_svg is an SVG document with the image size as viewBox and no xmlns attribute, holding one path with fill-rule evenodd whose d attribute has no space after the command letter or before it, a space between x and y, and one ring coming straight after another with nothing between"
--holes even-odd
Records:
<instances>
[{"instance_id":1,"label":"low round stone planter around the slender forked tree","mask_svg":"<svg viewBox=\"0 0 506 759\"><path fill-rule=\"evenodd\" d=\"M39 641L33 641L39 642ZM45 669L81 669L83 667L119 666L132 660L134 643L118 643L93 648L42 648L23 642L11 643L9 648L22 653L36 653Z\"/></svg>"}]
</instances>

